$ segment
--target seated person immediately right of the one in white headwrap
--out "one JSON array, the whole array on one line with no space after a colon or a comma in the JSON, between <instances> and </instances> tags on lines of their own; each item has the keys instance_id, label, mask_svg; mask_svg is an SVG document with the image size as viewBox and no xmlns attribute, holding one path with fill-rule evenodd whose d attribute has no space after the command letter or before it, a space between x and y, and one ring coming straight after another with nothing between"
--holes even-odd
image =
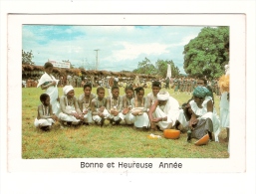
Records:
<instances>
[{"instance_id":1,"label":"seated person immediately right of the one in white headwrap","mask_svg":"<svg viewBox=\"0 0 256 194\"><path fill-rule=\"evenodd\" d=\"M91 102L92 102L92 99L95 97L96 95L92 94L92 85L90 84L84 85L84 94L82 94L78 98L78 103L79 103L80 109L84 114L84 123L86 125L89 125L89 123L93 122Z\"/></svg>"}]
</instances>

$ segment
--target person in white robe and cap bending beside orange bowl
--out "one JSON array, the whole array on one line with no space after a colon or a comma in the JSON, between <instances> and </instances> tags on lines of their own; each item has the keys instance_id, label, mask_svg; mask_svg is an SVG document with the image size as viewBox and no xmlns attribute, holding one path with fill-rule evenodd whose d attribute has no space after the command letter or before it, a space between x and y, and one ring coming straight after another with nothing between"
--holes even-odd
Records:
<instances>
[{"instance_id":1,"label":"person in white robe and cap bending beside orange bowl","mask_svg":"<svg viewBox=\"0 0 256 194\"><path fill-rule=\"evenodd\" d=\"M149 108L148 117L151 129L160 130L172 128L179 115L179 104L174 97L170 97L168 92L159 92L157 99Z\"/></svg>"}]
</instances>

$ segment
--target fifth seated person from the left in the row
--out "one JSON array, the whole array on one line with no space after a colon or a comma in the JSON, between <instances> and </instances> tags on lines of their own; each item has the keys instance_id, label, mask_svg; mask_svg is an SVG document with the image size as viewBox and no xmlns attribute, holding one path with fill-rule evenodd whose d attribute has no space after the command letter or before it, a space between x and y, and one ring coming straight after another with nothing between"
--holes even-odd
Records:
<instances>
[{"instance_id":1,"label":"fifth seated person from the left in the row","mask_svg":"<svg viewBox=\"0 0 256 194\"><path fill-rule=\"evenodd\" d=\"M112 97L107 97L107 110L110 112L110 121L112 124L120 124L124 120L123 99L120 97L120 88L113 86Z\"/></svg>"}]
</instances>

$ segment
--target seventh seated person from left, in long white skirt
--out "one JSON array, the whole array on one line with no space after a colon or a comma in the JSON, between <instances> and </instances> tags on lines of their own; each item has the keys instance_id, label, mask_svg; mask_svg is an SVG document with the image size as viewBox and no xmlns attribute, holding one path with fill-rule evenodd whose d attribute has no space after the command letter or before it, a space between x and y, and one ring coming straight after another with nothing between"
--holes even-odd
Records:
<instances>
[{"instance_id":1,"label":"seventh seated person from left, in long white skirt","mask_svg":"<svg viewBox=\"0 0 256 194\"><path fill-rule=\"evenodd\" d=\"M150 125L149 118L147 115L146 101L144 97L144 89L138 87L135 89L135 97L131 99L131 113L134 117L134 127L136 128L148 128ZM141 108L138 111L135 108Z\"/></svg>"}]
</instances>

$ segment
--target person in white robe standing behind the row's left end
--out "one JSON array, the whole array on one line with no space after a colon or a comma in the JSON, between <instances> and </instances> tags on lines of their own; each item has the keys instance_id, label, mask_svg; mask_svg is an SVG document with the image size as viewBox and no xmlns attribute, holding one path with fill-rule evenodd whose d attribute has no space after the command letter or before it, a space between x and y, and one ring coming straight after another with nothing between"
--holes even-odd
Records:
<instances>
[{"instance_id":1,"label":"person in white robe standing behind the row's left end","mask_svg":"<svg viewBox=\"0 0 256 194\"><path fill-rule=\"evenodd\" d=\"M58 116L58 113L60 112L59 92L57 88L59 80L56 80L52 75L53 68L54 66L50 62L45 63L45 74L40 78L37 88L41 86L42 90L46 90L45 93L50 97L53 113Z\"/></svg>"}]
</instances>

